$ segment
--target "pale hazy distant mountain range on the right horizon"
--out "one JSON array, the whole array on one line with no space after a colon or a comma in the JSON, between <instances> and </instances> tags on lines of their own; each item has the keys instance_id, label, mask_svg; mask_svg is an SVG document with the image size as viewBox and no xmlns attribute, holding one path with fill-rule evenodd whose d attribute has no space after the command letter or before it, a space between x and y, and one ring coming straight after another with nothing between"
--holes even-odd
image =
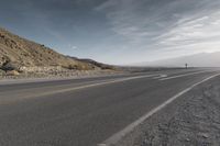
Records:
<instances>
[{"instance_id":1,"label":"pale hazy distant mountain range on the right horizon","mask_svg":"<svg viewBox=\"0 0 220 146\"><path fill-rule=\"evenodd\" d=\"M184 67L188 64L189 67L220 67L220 52L217 53L200 53L190 56L163 59L148 63L138 63L135 66L147 67Z\"/></svg>"}]
</instances>

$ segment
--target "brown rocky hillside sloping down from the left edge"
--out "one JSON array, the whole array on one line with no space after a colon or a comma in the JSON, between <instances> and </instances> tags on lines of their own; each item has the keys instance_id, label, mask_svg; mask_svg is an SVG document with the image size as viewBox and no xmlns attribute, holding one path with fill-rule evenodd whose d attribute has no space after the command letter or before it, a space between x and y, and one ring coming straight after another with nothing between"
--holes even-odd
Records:
<instances>
[{"instance_id":1,"label":"brown rocky hillside sloping down from the left edge","mask_svg":"<svg viewBox=\"0 0 220 146\"><path fill-rule=\"evenodd\" d=\"M25 71L29 68L59 67L77 70L99 69L94 64L66 57L32 41L0 29L0 68Z\"/></svg>"}]
</instances>

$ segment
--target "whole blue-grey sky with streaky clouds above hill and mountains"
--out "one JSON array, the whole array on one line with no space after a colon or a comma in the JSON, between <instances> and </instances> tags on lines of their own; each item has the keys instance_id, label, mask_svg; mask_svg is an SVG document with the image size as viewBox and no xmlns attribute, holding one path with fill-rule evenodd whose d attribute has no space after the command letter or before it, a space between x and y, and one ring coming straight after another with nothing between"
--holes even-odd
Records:
<instances>
[{"instance_id":1,"label":"whole blue-grey sky with streaky clouds above hill and mountains","mask_svg":"<svg viewBox=\"0 0 220 146\"><path fill-rule=\"evenodd\" d=\"M0 0L0 26L58 53L129 65L220 52L220 0Z\"/></svg>"}]
</instances>

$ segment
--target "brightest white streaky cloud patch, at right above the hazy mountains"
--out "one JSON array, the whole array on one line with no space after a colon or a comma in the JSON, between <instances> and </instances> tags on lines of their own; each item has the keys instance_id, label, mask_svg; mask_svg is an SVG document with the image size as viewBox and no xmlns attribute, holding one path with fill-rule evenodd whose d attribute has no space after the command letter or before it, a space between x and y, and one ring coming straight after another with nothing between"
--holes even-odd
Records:
<instances>
[{"instance_id":1,"label":"brightest white streaky cloud patch, at right above the hazy mountains","mask_svg":"<svg viewBox=\"0 0 220 146\"><path fill-rule=\"evenodd\" d=\"M157 37L165 46L215 43L220 41L220 11L206 16L179 20L177 25ZM182 23L179 23L182 22ZM209 49L209 48L207 48Z\"/></svg>"}]
</instances>

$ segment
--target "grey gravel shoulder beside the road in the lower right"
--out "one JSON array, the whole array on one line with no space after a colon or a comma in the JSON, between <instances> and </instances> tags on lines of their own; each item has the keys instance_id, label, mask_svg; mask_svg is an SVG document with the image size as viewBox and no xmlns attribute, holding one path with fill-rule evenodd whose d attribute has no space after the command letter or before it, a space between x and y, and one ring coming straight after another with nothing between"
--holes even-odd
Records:
<instances>
[{"instance_id":1,"label":"grey gravel shoulder beside the road in the lower right","mask_svg":"<svg viewBox=\"0 0 220 146\"><path fill-rule=\"evenodd\" d=\"M220 77L194 88L146 120L119 146L219 146Z\"/></svg>"}]
</instances>

